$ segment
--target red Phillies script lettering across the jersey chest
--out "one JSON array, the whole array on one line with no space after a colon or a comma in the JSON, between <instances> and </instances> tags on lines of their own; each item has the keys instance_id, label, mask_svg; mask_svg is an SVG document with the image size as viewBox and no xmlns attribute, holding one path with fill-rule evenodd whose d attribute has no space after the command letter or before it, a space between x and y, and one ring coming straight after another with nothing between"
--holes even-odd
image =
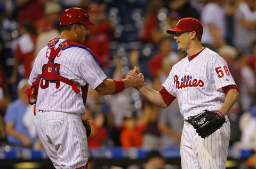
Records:
<instances>
[{"instance_id":1,"label":"red Phillies script lettering across the jersey chest","mask_svg":"<svg viewBox=\"0 0 256 169\"><path fill-rule=\"evenodd\" d=\"M181 81L181 82L180 82ZM182 89L182 88L187 88L187 87L203 87L204 86L204 82L203 80L199 79L194 79L192 80L191 75L185 75L184 77L182 77L179 81L179 77L178 75L174 75L174 85L176 83L176 89Z\"/></svg>"}]
</instances>

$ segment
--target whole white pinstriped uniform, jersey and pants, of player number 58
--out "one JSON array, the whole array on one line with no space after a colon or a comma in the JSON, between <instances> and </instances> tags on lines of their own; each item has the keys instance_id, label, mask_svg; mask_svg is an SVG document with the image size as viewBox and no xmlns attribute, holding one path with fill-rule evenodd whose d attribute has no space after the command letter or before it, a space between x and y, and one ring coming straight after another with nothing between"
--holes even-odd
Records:
<instances>
[{"instance_id":1,"label":"whole white pinstriped uniform, jersey and pants, of player number 58","mask_svg":"<svg viewBox=\"0 0 256 169\"><path fill-rule=\"evenodd\" d=\"M227 123L206 139L199 137L186 120L204 109L218 110L226 97L222 87L228 85L235 85L235 81L226 61L208 48L190 62L185 57L175 64L163 83L163 87L178 98L180 112L185 120L181 137L183 169L225 168L230 138L227 116Z\"/></svg>"}]
</instances>

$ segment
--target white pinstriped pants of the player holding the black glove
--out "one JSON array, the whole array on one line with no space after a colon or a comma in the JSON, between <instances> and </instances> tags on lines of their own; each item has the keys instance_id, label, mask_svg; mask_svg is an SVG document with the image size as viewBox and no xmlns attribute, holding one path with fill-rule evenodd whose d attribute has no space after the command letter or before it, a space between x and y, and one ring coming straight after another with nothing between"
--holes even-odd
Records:
<instances>
[{"instance_id":1,"label":"white pinstriped pants of the player holding the black glove","mask_svg":"<svg viewBox=\"0 0 256 169\"><path fill-rule=\"evenodd\" d=\"M230 139L230 123L202 139L191 124L185 121L181 136L182 169L225 169Z\"/></svg>"}]
</instances>

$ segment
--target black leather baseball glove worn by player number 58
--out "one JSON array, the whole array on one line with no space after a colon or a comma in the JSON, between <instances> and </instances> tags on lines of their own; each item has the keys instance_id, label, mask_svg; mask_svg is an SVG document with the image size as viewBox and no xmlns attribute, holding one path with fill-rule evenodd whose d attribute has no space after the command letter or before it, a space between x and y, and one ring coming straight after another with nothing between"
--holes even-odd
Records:
<instances>
[{"instance_id":1,"label":"black leather baseball glove worn by player number 58","mask_svg":"<svg viewBox=\"0 0 256 169\"><path fill-rule=\"evenodd\" d=\"M226 122L226 119L219 111L208 111L205 109L202 113L189 116L188 121L196 129L198 135L205 139L220 129L222 124Z\"/></svg>"}]
</instances>

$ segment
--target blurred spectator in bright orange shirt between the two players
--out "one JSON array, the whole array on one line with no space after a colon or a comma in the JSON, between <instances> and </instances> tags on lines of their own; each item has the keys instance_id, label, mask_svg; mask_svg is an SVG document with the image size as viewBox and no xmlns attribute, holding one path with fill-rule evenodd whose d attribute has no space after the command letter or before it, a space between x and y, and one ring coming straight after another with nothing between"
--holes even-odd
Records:
<instances>
[{"instance_id":1,"label":"blurred spectator in bright orange shirt between the two players","mask_svg":"<svg viewBox=\"0 0 256 169\"><path fill-rule=\"evenodd\" d=\"M124 129L120 135L120 141L123 148L141 147L142 132L146 124L141 122L137 125L137 119L134 116L124 117Z\"/></svg>"}]
</instances>

